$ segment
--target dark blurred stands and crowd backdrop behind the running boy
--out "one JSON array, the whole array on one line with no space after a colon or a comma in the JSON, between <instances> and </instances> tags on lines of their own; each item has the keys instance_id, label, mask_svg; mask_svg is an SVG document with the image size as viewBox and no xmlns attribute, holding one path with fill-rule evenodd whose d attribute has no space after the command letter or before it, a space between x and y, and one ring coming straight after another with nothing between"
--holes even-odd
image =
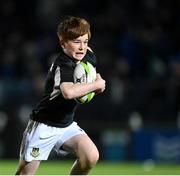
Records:
<instances>
[{"instance_id":1,"label":"dark blurred stands and crowd backdrop behind the running boy","mask_svg":"<svg viewBox=\"0 0 180 176\"><path fill-rule=\"evenodd\" d=\"M0 158L18 158L49 58L59 49L57 25L66 15L90 22L90 47L107 82L104 94L79 107L75 119L102 159L138 160L142 150L135 147L151 141L149 130L155 139L162 137L157 146L164 140L172 144L180 127L179 11L178 0L1 0ZM173 145L179 150L178 140ZM165 149L165 158L172 148ZM140 159L153 159L147 153Z\"/></svg>"}]
</instances>

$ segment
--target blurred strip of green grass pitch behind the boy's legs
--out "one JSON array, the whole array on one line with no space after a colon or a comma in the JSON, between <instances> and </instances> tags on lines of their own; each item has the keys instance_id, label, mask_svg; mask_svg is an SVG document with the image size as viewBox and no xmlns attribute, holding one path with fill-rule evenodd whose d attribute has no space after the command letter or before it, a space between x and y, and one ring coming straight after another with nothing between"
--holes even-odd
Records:
<instances>
[{"instance_id":1,"label":"blurred strip of green grass pitch behind the boy's legs","mask_svg":"<svg viewBox=\"0 0 180 176\"><path fill-rule=\"evenodd\" d=\"M68 175L72 161L45 161L42 162L37 175ZM13 175L18 161L0 161L0 175ZM91 171L90 175L179 175L178 164L154 164L146 163L124 163L124 162L102 162Z\"/></svg>"}]
</instances>

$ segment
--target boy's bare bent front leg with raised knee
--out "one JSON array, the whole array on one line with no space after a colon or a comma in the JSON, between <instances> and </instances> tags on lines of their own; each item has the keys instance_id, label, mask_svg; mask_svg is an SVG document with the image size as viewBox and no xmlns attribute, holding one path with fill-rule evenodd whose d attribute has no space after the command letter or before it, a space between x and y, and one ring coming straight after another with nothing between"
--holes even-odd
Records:
<instances>
[{"instance_id":1,"label":"boy's bare bent front leg with raised knee","mask_svg":"<svg viewBox=\"0 0 180 176\"><path fill-rule=\"evenodd\" d=\"M86 134L79 134L67 140L63 148L77 156L71 168L71 175L88 174L99 159L99 152L95 144Z\"/></svg>"}]
</instances>

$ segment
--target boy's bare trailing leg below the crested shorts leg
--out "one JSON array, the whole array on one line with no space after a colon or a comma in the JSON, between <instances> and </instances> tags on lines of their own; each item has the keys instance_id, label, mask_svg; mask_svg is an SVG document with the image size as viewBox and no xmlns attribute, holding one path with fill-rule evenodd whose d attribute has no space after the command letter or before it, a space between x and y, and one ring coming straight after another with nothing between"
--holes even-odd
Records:
<instances>
[{"instance_id":1,"label":"boy's bare trailing leg below the crested shorts leg","mask_svg":"<svg viewBox=\"0 0 180 176\"><path fill-rule=\"evenodd\" d=\"M40 161L36 161L36 160L33 160L31 162L20 160L15 175L34 175L39 167L39 164Z\"/></svg>"}]
</instances>

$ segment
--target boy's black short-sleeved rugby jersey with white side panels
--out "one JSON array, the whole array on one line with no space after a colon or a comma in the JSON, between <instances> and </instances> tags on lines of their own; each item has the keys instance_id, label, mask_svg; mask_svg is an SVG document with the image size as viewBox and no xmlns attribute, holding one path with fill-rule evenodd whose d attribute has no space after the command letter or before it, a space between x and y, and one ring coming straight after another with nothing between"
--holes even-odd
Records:
<instances>
[{"instance_id":1,"label":"boy's black short-sleeved rugby jersey with white side panels","mask_svg":"<svg viewBox=\"0 0 180 176\"><path fill-rule=\"evenodd\" d=\"M96 66L96 57L89 50L83 61L89 61ZM61 50L49 69L44 95L30 115L32 120L54 127L66 127L73 122L77 102L64 99L60 91L60 84L73 82L75 67L76 62Z\"/></svg>"}]
</instances>

